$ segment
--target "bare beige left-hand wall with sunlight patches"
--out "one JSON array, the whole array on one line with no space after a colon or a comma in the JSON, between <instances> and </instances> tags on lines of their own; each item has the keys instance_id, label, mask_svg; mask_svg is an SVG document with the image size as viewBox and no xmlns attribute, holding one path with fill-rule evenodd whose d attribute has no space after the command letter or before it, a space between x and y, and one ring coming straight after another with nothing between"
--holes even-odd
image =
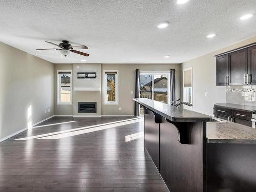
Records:
<instances>
[{"instance_id":1,"label":"bare beige left-hand wall with sunlight patches","mask_svg":"<svg viewBox=\"0 0 256 192\"><path fill-rule=\"evenodd\" d=\"M54 114L53 73L52 63L0 42L0 140Z\"/></svg>"}]
</instances>

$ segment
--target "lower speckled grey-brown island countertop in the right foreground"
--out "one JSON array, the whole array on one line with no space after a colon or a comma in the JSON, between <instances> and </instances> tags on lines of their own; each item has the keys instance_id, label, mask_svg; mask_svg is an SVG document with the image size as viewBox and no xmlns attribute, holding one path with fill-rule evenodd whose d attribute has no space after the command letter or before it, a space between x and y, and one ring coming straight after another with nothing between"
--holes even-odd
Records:
<instances>
[{"instance_id":1,"label":"lower speckled grey-brown island countertop in the right foreground","mask_svg":"<svg viewBox=\"0 0 256 192\"><path fill-rule=\"evenodd\" d=\"M256 144L256 129L230 121L207 122L206 140L207 143Z\"/></svg>"}]
</instances>

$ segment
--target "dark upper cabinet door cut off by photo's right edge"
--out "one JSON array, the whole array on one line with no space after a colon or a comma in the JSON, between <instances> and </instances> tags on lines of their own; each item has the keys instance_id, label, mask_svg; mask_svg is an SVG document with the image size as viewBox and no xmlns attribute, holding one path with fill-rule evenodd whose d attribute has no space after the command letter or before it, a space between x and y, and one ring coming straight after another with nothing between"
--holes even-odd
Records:
<instances>
[{"instance_id":1,"label":"dark upper cabinet door cut off by photo's right edge","mask_svg":"<svg viewBox=\"0 0 256 192\"><path fill-rule=\"evenodd\" d=\"M249 84L256 84L256 46L248 48Z\"/></svg>"}]
</instances>

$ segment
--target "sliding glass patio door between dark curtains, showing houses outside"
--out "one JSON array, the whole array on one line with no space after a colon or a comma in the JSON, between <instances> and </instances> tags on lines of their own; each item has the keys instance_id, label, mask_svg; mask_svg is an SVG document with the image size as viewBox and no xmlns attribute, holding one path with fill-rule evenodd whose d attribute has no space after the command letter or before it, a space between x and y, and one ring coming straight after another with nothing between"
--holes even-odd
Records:
<instances>
[{"instance_id":1,"label":"sliding glass patio door between dark curtains, showing houses outside","mask_svg":"<svg viewBox=\"0 0 256 192\"><path fill-rule=\"evenodd\" d=\"M153 81L154 80L154 81ZM140 74L140 98L148 98L168 104L169 73ZM152 83L154 82L154 83ZM143 109L140 110L143 114Z\"/></svg>"}]
</instances>

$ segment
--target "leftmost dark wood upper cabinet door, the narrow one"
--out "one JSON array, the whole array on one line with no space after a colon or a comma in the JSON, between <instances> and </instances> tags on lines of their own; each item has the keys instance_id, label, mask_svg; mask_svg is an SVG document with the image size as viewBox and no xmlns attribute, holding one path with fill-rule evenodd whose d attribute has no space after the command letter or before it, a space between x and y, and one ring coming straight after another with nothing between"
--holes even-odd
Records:
<instances>
[{"instance_id":1,"label":"leftmost dark wood upper cabinet door, the narrow one","mask_svg":"<svg viewBox=\"0 0 256 192\"><path fill-rule=\"evenodd\" d=\"M226 86L228 84L228 55L216 58L216 85Z\"/></svg>"}]
</instances>

